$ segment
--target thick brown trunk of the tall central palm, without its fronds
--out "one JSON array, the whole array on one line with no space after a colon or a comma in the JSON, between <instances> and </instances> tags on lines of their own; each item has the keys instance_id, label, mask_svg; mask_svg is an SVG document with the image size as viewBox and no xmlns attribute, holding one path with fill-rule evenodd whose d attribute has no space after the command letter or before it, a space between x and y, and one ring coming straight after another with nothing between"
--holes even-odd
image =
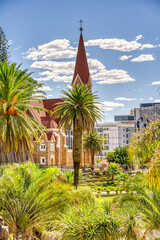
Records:
<instances>
[{"instance_id":1,"label":"thick brown trunk of the tall central palm, without its fronds","mask_svg":"<svg viewBox=\"0 0 160 240\"><path fill-rule=\"evenodd\" d=\"M79 167L82 151L82 126L77 121L73 124L73 163L74 163L74 186L78 187Z\"/></svg>"}]
</instances>

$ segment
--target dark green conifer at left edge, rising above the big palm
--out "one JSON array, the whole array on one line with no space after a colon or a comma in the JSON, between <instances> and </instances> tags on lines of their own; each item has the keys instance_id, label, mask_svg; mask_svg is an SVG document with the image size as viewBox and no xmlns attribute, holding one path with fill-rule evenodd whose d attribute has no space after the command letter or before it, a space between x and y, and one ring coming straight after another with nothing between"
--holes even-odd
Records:
<instances>
[{"instance_id":1,"label":"dark green conifer at left edge, rising above the big palm","mask_svg":"<svg viewBox=\"0 0 160 240\"><path fill-rule=\"evenodd\" d=\"M8 41L3 32L3 29L0 27L0 62L8 61L9 53L8 53Z\"/></svg>"}]
</instances>

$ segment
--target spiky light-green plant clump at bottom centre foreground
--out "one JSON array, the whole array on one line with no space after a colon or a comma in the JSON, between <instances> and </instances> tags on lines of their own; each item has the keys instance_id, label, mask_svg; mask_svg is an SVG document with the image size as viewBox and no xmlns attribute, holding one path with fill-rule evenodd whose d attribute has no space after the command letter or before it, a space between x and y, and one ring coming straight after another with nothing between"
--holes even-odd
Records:
<instances>
[{"instance_id":1,"label":"spiky light-green plant clump at bottom centre foreground","mask_svg":"<svg viewBox=\"0 0 160 240\"><path fill-rule=\"evenodd\" d=\"M120 239L121 218L116 211L99 210L96 205L70 208L61 217L60 228L65 240Z\"/></svg>"}]
</instances>

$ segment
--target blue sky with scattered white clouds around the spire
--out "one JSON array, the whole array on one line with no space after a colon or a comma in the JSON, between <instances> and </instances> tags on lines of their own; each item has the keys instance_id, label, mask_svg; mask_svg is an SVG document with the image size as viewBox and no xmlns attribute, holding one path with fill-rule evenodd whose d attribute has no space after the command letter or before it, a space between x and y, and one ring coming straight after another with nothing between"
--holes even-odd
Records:
<instances>
[{"instance_id":1,"label":"blue sky with scattered white clouds around the spire","mask_svg":"<svg viewBox=\"0 0 160 240\"><path fill-rule=\"evenodd\" d=\"M160 95L160 0L0 0L11 61L61 96L74 73L79 20L105 120Z\"/></svg>"}]
</instances>

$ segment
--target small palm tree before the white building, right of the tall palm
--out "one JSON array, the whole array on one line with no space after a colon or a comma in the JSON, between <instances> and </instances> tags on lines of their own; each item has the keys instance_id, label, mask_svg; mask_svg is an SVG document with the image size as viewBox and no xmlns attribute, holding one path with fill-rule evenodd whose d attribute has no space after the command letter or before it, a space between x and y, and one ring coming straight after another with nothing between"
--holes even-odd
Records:
<instances>
[{"instance_id":1,"label":"small palm tree before the white building, right of the tall palm","mask_svg":"<svg viewBox=\"0 0 160 240\"><path fill-rule=\"evenodd\" d=\"M92 169L94 169L94 156L97 152L101 152L103 140L99 133L91 129L88 135L83 138L83 148L91 152Z\"/></svg>"}]
</instances>

